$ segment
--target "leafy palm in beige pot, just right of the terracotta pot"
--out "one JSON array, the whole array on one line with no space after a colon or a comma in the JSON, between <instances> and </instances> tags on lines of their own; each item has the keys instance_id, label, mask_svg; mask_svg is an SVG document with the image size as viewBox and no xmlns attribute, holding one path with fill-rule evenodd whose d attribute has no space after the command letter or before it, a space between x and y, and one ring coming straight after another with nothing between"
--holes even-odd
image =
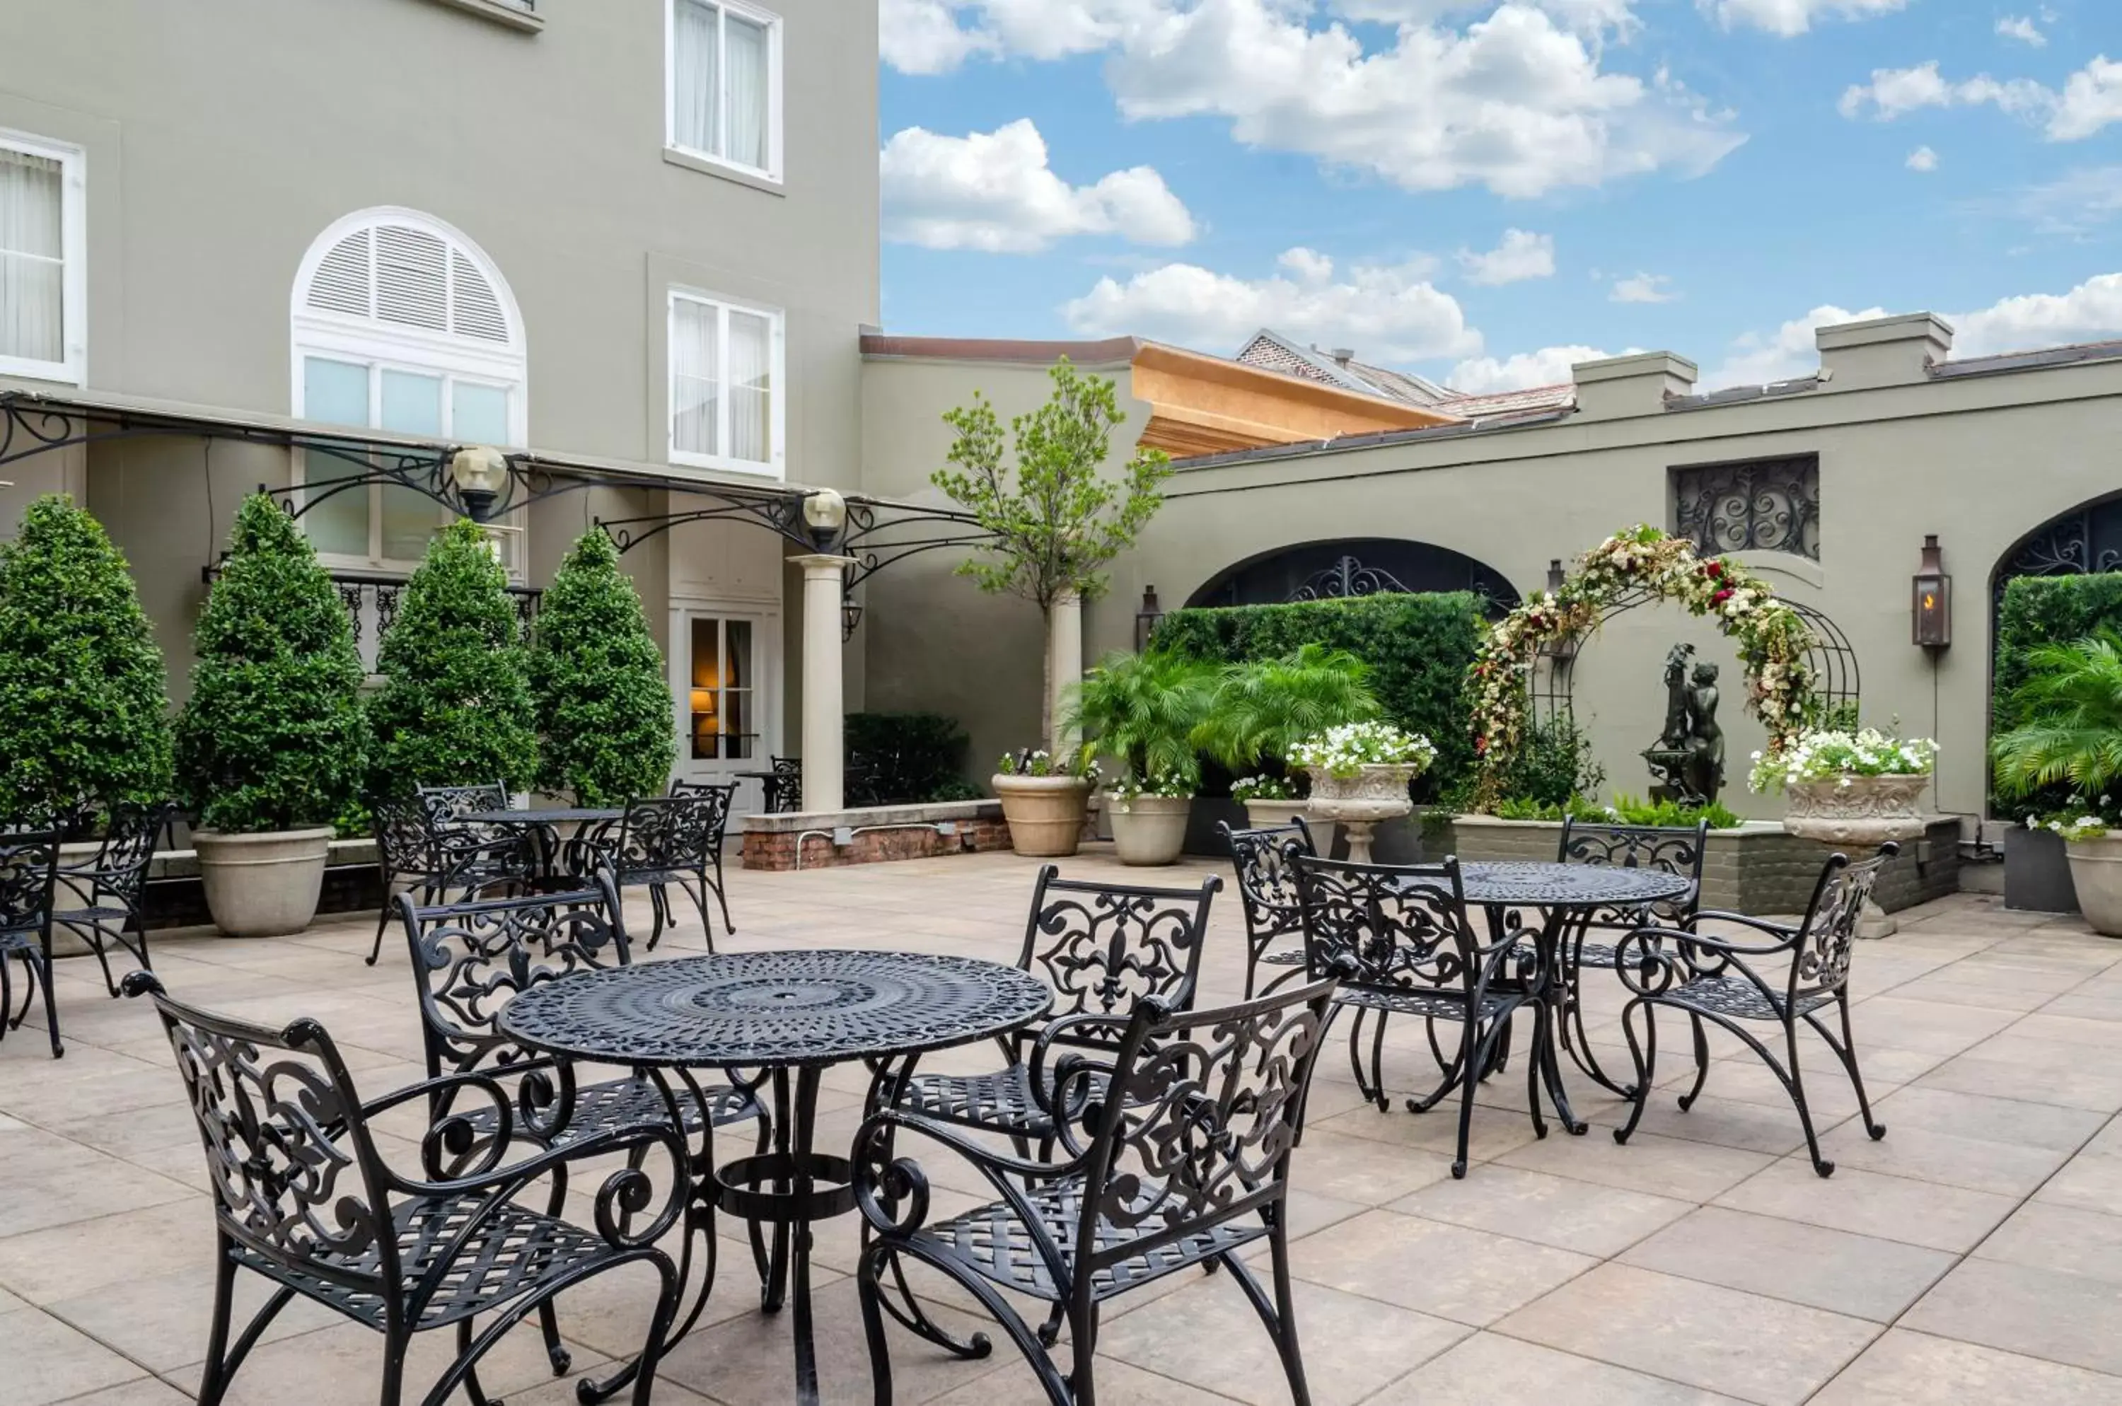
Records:
<instances>
[{"instance_id":1,"label":"leafy palm in beige pot, just right of the terracotta pot","mask_svg":"<svg viewBox=\"0 0 2122 1406\"><path fill-rule=\"evenodd\" d=\"M1112 846L1120 863L1165 865L1186 848L1186 814L1201 785L1193 734L1207 713L1214 674L1169 651L1110 653L1074 689L1063 727L1084 757L1118 759Z\"/></svg>"}]
</instances>

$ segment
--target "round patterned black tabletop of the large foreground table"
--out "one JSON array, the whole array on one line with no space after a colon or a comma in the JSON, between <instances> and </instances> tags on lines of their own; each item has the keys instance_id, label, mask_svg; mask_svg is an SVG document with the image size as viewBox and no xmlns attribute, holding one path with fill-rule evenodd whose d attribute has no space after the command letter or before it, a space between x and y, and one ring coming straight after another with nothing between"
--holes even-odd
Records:
<instances>
[{"instance_id":1,"label":"round patterned black tabletop of the large foreground table","mask_svg":"<svg viewBox=\"0 0 2122 1406\"><path fill-rule=\"evenodd\" d=\"M550 982L509 1001L501 1029L586 1060L760 1069L961 1045L1050 1001L1038 978L970 956L732 952Z\"/></svg>"}]
</instances>

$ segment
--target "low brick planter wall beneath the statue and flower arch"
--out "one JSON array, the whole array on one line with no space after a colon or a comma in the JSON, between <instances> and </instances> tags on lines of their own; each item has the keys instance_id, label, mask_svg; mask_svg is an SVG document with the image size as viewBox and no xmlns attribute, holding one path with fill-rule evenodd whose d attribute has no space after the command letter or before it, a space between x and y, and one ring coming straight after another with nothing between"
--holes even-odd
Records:
<instances>
[{"instance_id":1,"label":"low brick planter wall beneath the statue and flower arch","mask_svg":"<svg viewBox=\"0 0 2122 1406\"><path fill-rule=\"evenodd\" d=\"M1460 859L1547 859L1562 844L1560 821L1496 821L1462 814L1454 823ZM1802 914L1812 901L1821 865L1836 850L1857 859L1853 846L1799 840L1776 821L1749 821L1740 829L1710 831L1702 857L1702 906L1755 916ZM1880 874L1872 897L1886 912L1914 908L1959 893L1961 823L1937 816L1920 840L1903 840L1901 853Z\"/></svg>"}]
</instances>

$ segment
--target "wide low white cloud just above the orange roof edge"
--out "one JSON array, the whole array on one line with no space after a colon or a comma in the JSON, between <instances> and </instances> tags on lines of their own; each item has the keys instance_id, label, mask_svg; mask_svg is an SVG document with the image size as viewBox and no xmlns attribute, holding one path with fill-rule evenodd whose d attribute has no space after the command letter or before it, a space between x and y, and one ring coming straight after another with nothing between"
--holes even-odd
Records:
<instances>
[{"instance_id":1,"label":"wide low white cloud just above the orange roof edge","mask_svg":"<svg viewBox=\"0 0 2122 1406\"><path fill-rule=\"evenodd\" d=\"M1093 337L1133 333L1218 350L1273 327L1299 339L1356 346L1367 358L1388 363L1473 356L1481 333L1466 327L1458 299L1430 284L1432 269L1432 261L1413 259L1337 271L1333 259L1309 248L1284 252L1280 271L1250 280L1165 263L1125 284L1097 280L1061 316Z\"/></svg>"}]
</instances>

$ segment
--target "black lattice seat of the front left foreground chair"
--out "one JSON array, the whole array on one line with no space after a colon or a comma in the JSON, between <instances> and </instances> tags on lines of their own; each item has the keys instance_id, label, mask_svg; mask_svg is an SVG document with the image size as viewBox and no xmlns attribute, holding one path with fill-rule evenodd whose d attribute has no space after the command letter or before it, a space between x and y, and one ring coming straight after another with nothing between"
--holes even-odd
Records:
<instances>
[{"instance_id":1,"label":"black lattice seat of the front left foreground chair","mask_svg":"<svg viewBox=\"0 0 2122 1406\"><path fill-rule=\"evenodd\" d=\"M418 1328L439 1328L486 1313L543 1285L562 1270L579 1275L592 1264L624 1258L594 1230L520 1205L494 1209L458 1245L458 1236L482 1213L486 1200L486 1194L467 1194L403 1200L390 1207L390 1219L397 1226L399 1272L407 1294L427 1279L439 1260L450 1262L441 1275L441 1287L420 1313ZM384 1298L380 1294L348 1287L323 1272L310 1275L289 1268L248 1247L238 1247L236 1255L244 1268L284 1283L301 1291L303 1298L314 1298L369 1328L384 1325ZM320 1270L363 1277L378 1272L373 1245L359 1255L325 1251L314 1258L314 1264Z\"/></svg>"}]
</instances>

